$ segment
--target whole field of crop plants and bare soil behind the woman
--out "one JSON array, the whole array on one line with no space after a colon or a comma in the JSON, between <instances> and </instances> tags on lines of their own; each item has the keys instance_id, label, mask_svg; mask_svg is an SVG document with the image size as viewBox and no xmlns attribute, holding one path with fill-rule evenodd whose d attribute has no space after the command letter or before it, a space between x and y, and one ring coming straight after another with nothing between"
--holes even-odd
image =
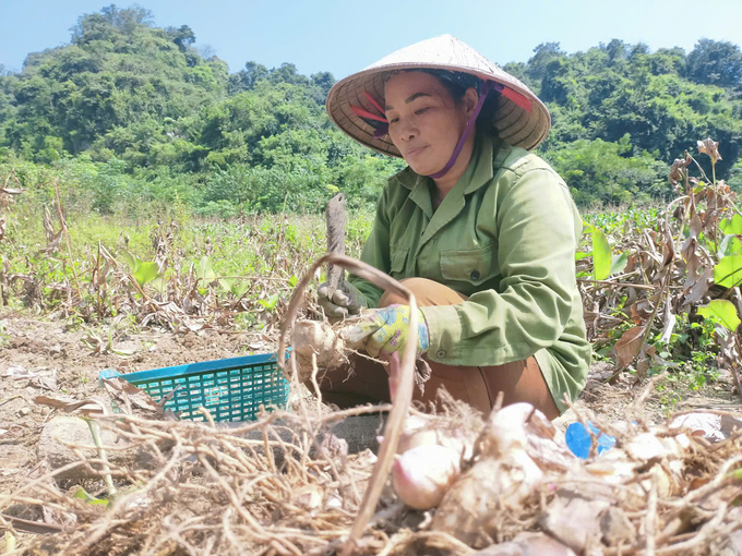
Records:
<instances>
[{"instance_id":1,"label":"whole field of crop plants and bare soil behind the woman","mask_svg":"<svg viewBox=\"0 0 742 556\"><path fill-rule=\"evenodd\" d=\"M680 162L672 203L584 213L576 265L595 359L583 396L559 420L562 431L586 414L596 422L623 421L637 403L648 425L683 411L739 408L742 215L723 182L693 178L691 160ZM60 410L35 402L38 396L105 400L97 384L104 368L131 372L276 351L291 292L324 253L325 232L321 215L205 220L178 204L139 220L104 217L67 207L58 189L53 203L26 201L13 176L5 178L0 511L7 513L23 504L44 507L11 495L29 478L45 476L41 433ZM367 213L349 215L348 255L359 255L371 221ZM314 287L321 281L318 274ZM301 315L320 316L311 292ZM81 487L106 496L104 479L87 476L59 482L51 499L61 511L60 500ZM79 519L99 522L83 509ZM36 520L24 511L16 517ZM188 543L172 531L175 544L153 554L198 552L182 548ZM33 534L19 534L17 542L40 549ZM73 539L80 536L68 541ZM207 535L189 539L205 549ZM111 546L96 545L91 554ZM276 546L275 554L291 553Z\"/></svg>"}]
</instances>

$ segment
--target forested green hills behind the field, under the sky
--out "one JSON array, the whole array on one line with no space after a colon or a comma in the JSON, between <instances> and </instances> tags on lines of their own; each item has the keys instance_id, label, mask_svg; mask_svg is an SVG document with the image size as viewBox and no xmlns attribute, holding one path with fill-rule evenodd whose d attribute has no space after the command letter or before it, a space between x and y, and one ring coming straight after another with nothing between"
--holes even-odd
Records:
<instances>
[{"instance_id":1,"label":"forested green hills behind the field, under the sky","mask_svg":"<svg viewBox=\"0 0 742 556\"><path fill-rule=\"evenodd\" d=\"M110 5L81 16L69 45L0 71L0 174L15 168L27 186L61 177L104 213L173 200L225 216L315 210L337 189L375 202L399 162L331 124L332 74L253 61L230 74L194 43L188 25ZM567 55L544 44L505 69L548 104L539 154L579 203L669 195L669 162L707 136L721 143L717 176L742 190L739 46L650 52L612 40Z\"/></svg>"}]
</instances>

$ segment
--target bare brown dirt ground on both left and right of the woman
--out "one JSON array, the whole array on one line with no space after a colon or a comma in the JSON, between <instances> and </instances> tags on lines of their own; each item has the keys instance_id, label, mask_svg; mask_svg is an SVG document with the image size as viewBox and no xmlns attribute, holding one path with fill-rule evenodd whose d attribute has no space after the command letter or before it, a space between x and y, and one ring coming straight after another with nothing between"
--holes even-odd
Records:
<instances>
[{"instance_id":1,"label":"bare brown dirt ground on both left and right of the woman","mask_svg":"<svg viewBox=\"0 0 742 556\"><path fill-rule=\"evenodd\" d=\"M0 314L0 495L11 493L38 463L41 428L56 410L35 404L36 396L103 399L105 392L98 388L97 377L104 368L125 373L275 350L264 335L217 329L173 334L146 328L113 334L112 348L133 351L131 355L96 350L83 341L85 337L85 330L70 328L64 321ZM19 372L19 367L41 379L8 376ZM610 375L611 371L609 363L594 365L593 378L575 404L578 411L587 409L609 422L625 419L626 407L642 387L632 385L631 375L614 385L602 384L600 377ZM645 415L657 423L666 419L668 409L739 410L740 399L732 394L731 382L727 376L702 391L677 390L680 399L672 407L663 403L661 395L653 395L644 406ZM574 420L574 413L567 412L559 419L559 424L563 430Z\"/></svg>"}]
</instances>

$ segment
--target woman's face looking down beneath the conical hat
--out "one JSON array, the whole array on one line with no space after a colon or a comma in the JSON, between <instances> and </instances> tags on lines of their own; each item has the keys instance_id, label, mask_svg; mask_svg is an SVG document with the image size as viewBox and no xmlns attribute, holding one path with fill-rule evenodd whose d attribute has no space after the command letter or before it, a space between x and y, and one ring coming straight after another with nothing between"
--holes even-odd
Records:
<instances>
[{"instance_id":1,"label":"woman's face looking down beneath the conical hat","mask_svg":"<svg viewBox=\"0 0 742 556\"><path fill-rule=\"evenodd\" d=\"M469 89L456 104L438 77L403 72L386 82L384 100L392 143L416 173L429 176L451 158L477 96Z\"/></svg>"}]
</instances>

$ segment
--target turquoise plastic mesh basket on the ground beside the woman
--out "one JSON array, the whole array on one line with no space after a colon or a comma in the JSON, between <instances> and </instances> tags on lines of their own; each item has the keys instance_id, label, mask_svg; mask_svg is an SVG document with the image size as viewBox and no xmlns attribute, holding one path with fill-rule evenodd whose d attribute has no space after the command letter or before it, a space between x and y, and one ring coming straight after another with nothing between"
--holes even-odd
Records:
<instances>
[{"instance_id":1,"label":"turquoise plastic mesh basket on the ground beside the woman","mask_svg":"<svg viewBox=\"0 0 742 556\"><path fill-rule=\"evenodd\" d=\"M288 382L276 361L275 353L265 353L127 374L106 368L99 377L123 378L157 401L177 389L165 408L179 419L204 421L198 412L203 407L215 421L251 421L261 406L286 407Z\"/></svg>"}]
</instances>

